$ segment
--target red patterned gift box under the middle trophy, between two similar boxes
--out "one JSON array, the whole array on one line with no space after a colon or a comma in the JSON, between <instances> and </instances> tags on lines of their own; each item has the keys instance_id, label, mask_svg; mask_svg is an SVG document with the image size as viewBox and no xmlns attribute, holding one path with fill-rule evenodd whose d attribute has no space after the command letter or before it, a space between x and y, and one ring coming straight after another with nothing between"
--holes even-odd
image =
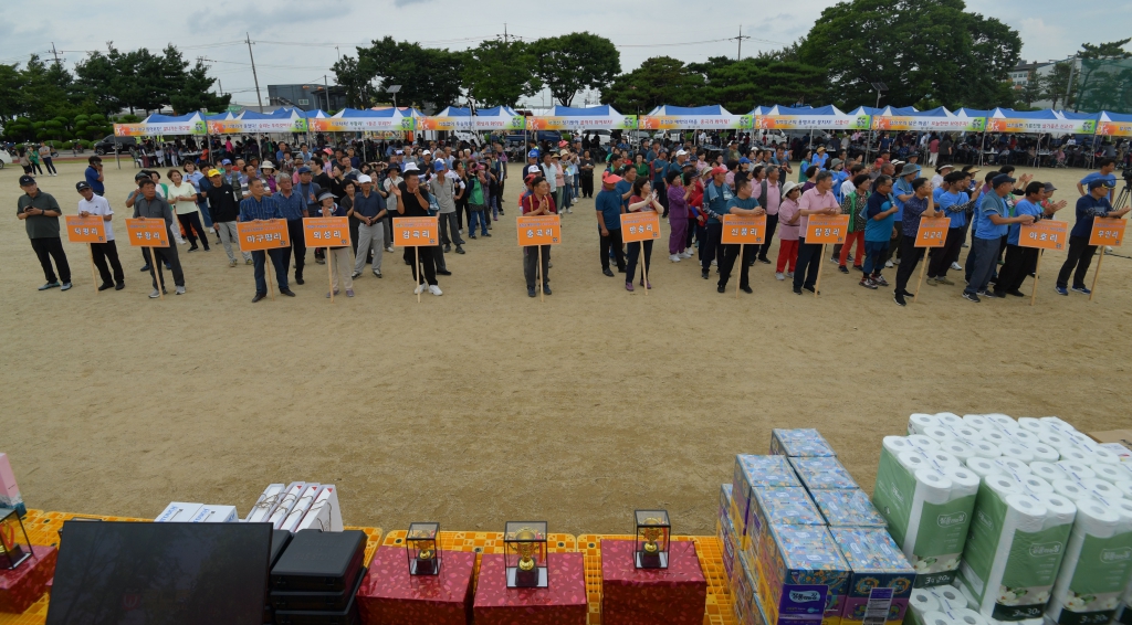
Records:
<instances>
[{"instance_id":1,"label":"red patterned gift box under the middle trophy, between two similar boxes","mask_svg":"<svg viewBox=\"0 0 1132 625\"><path fill-rule=\"evenodd\" d=\"M585 625L582 554L548 554L547 588L507 588L501 554L484 554L475 588L475 625Z\"/></svg>"}]
</instances>

